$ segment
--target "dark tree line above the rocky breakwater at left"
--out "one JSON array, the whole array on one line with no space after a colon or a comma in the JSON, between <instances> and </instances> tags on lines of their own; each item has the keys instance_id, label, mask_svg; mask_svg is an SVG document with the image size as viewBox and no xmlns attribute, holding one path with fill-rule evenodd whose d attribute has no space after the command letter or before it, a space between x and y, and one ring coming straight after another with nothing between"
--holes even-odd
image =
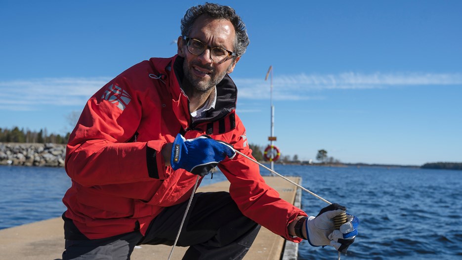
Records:
<instances>
[{"instance_id":1,"label":"dark tree line above the rocky breakwater at left","mask_svg":"<svg viewBox=\"0 0 462 260\"><path fill-rule=\"evenodd\" d=\"M55 133L48 133L45 129L40 131L33 131L24 128L19 129L14 127L13 129L0 128L0 142L6 143L62 143L66 144L69 140L68 132L66 135L60 135Z\"/></svg>"}]
</instances>

